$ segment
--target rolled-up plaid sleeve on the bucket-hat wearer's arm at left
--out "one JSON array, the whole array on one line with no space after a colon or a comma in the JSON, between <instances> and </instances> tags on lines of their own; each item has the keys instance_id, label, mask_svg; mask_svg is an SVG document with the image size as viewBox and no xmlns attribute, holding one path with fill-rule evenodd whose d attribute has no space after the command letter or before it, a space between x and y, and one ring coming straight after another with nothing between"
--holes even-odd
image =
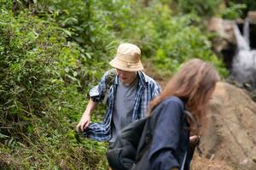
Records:
<instances>
[{"instance_id":1,"label":"rolled-up plaid sleeve on the bucket-hat wearer's arm at left","mask_svg":"<svg viewBox=\"0 0 256 170\"><path fill-rule=\"evenodd\" d=\"M107 92L107 86L106 86L106 79L108 76L108 71L105 72L103 77L101 78L101 81L96 85L95 87L90 89L90 98L94 102L100 102L102 99L104 99L104 96Z\"/></svg>"}]
</instances>

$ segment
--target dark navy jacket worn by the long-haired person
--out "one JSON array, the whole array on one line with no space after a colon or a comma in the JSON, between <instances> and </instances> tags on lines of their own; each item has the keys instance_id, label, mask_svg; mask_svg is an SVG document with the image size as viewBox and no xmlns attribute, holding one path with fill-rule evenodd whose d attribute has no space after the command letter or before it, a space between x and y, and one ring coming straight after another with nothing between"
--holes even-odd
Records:
<instances>
[{"instance_id":1,"label":"dark navy jacket worn by the long-haired person","mask_svg":"<svg viewBox=\"0 0 256 170\"><path fill-rule=\"evenodd\" d=\"M184 103L176 96L163 100L152 111L152 140L149 150L137 162L134 169L170 170L181 169L185 153L184 170L189 169L189 129Z\"/></svg>"}]
</instances>

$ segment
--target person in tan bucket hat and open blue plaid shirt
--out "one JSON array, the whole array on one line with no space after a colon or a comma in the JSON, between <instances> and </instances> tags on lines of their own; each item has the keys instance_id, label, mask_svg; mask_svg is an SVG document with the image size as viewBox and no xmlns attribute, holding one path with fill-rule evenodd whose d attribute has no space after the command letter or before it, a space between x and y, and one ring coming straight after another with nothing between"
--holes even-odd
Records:
<instances>
[{"instance_id":1,"label":"person in tan bucket hat and open blue plaid shirt","mask_svg":"<svg viewBox=\"0 0 256 170\"><path fill-rule=\"evenodd\" d=\"M111 71L107 71L90 90L90 101L77 125L85 137L112 143L121 128L146 116L150 100L160 94L160 86L143 73L140 57L141 50L136 45L119 45L109 62L115 71L113 82L108 86ZM104 98L108 107L103 122L90 123L91 112Z\"/></svg>"}]
</instances>

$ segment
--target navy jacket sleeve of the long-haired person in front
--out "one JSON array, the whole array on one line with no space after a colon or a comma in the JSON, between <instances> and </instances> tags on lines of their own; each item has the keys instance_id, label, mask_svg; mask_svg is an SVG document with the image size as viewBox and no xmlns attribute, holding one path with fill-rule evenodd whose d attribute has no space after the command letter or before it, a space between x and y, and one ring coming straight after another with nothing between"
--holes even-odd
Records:
<instances>
[{"instance_id":1,"label":"navy jacket sleeve of the long-haired person in front","mask_svg":"<svg viewBox=\"0 0 256 170\"><path fill-rule=\"evenodd\" d=\"M182 117L183 103L168 99L155 122L148 155L150 169L170 170L179 167L176 154Z\"/></svg>"}]
</instances>

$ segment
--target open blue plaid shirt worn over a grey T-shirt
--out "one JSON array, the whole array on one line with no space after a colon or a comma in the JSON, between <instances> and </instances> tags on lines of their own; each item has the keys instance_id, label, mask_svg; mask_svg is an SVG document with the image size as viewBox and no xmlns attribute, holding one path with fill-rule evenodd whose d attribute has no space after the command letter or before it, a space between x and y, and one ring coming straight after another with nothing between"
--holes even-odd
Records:
<instances>
[{"instance_id":1,"label":"open blue plaid shirt worn over a grey T-shirt","mask_svg":"<svg viewBox=\"0 0 256 170\"><path fill-rule=\"evenodd\" d=\"M90 98L94 102L100 102L104 99L105 94L108 94L107 105L108 109L103 118L103 122L91 122L83 135L90 139L99 141L108 141L111 139L111 122L113 114L113 105L115 101L116 90L119 85L118 75L115 77L113 85L109 88L107 93L106 78L108 71L104 74L101 82L90 90ZM142 119L146 116L148 105L151 99L154 99L160 94L160 86L151 77L148 77L143 71L138 71L139 82L137 85L137 92L135 96L134 109L132 111L132 122Z\"/></svg>"}]
</instances>

